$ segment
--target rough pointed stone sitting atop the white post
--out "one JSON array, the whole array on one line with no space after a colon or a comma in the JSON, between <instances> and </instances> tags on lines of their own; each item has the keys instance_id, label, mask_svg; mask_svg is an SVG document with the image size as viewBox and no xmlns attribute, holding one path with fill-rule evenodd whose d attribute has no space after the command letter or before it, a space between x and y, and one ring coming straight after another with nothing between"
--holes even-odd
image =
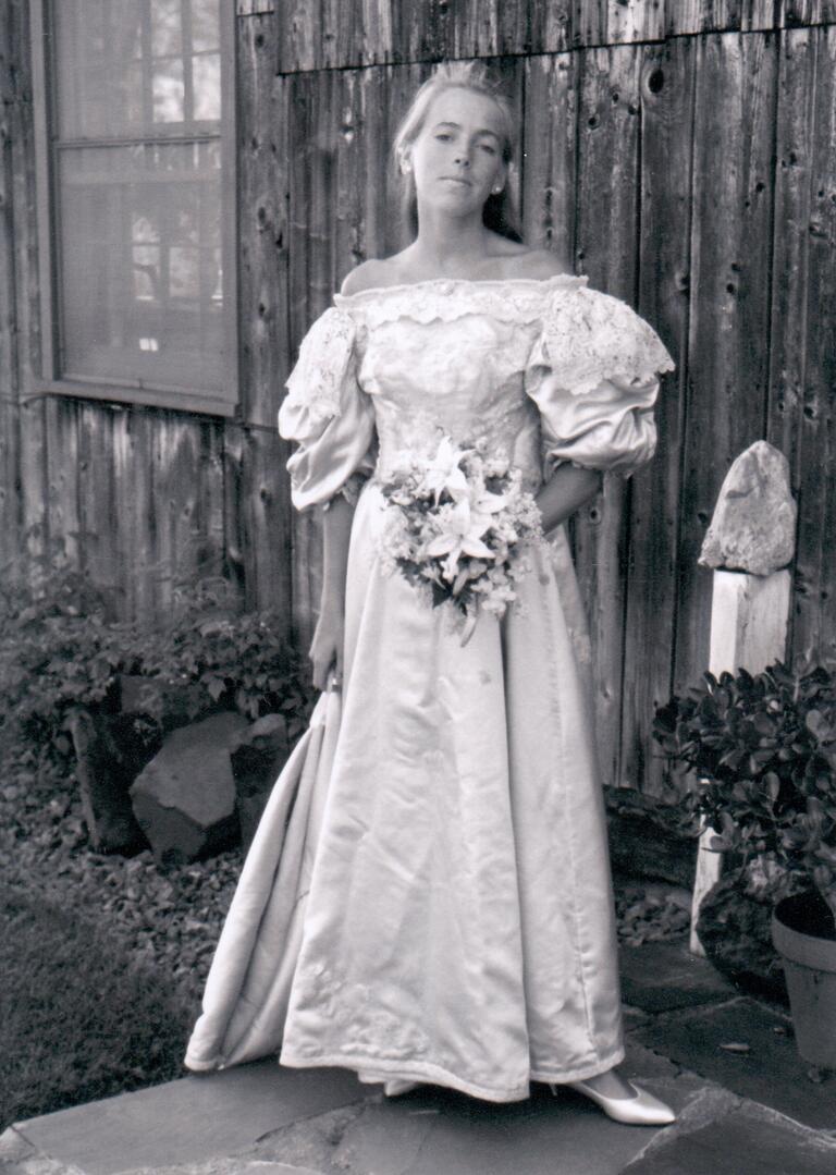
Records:
<instances>
[{"instance_id":1,"label":"rough pointed stone sitting atop the white post","mask_svg":"<svg viewBox=\"0 0 836 1175\"><path fill-rule=\"evenodd\" d=\"M755 441L726 475L699 562L769 576L793 558L795 519L787 458L767 441Z\"/></svg>"}]
</instances>

